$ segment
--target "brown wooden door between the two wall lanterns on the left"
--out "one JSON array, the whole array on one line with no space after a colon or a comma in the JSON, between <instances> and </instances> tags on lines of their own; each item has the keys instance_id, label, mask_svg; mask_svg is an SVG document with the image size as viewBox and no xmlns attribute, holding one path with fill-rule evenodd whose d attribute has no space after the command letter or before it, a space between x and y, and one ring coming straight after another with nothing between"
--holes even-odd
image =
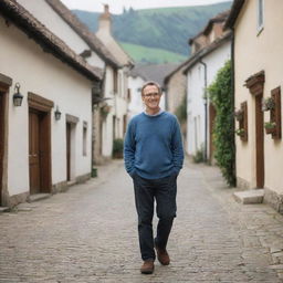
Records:
<instances>
[{"instance_id":1,"label":"brown wooden door between the two wall lanterns on the left","mask_svg":"<svg viewBox=\"0 0 283 283\"><path fill-rule=\"evenodd\" d=\"M29 164L30 164L30 193L39 193L41 189L40 165L40 114L29 112Z\"/></svg>"}]
</instances>

